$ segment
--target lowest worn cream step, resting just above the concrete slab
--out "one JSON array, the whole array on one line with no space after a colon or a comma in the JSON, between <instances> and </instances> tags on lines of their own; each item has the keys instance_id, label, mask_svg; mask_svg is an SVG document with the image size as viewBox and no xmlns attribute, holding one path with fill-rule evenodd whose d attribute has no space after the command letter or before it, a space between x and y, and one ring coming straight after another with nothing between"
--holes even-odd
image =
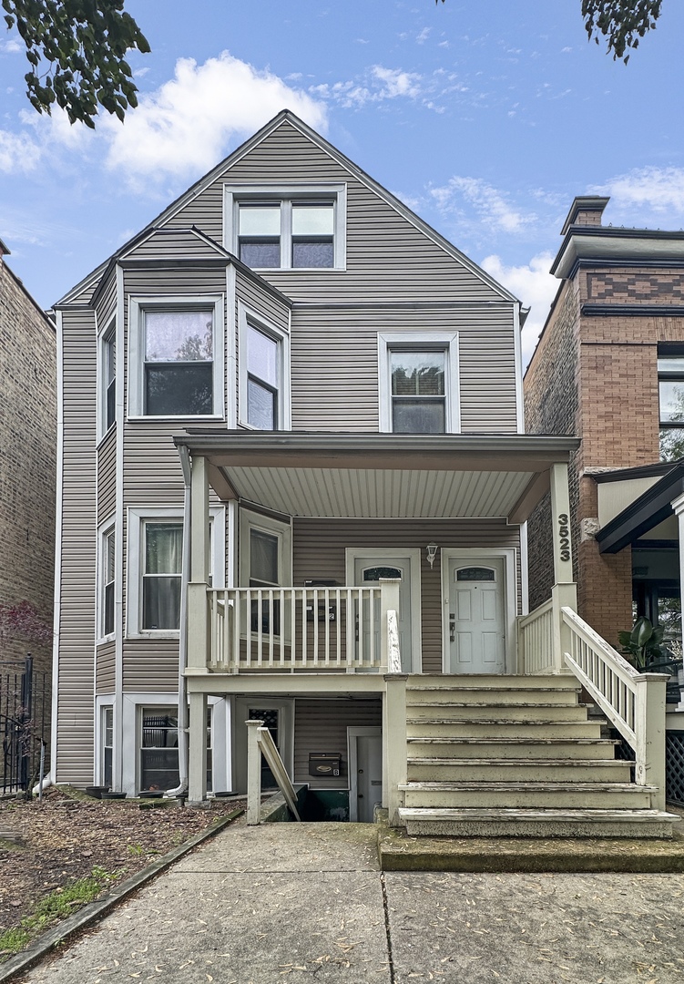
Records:
<instances>
[{"instance_id":1,"label":"lowest worn cream step, resting just above the concrete slab","mask_svg":"<svg viewBox=\"0 0 684 984\"><path fill-rule=\"evenodd\" d=\"M451 837L670 837L679 818L659 810L477 810L399 811L412 835Z\"/></svg>"}]
</instances>

